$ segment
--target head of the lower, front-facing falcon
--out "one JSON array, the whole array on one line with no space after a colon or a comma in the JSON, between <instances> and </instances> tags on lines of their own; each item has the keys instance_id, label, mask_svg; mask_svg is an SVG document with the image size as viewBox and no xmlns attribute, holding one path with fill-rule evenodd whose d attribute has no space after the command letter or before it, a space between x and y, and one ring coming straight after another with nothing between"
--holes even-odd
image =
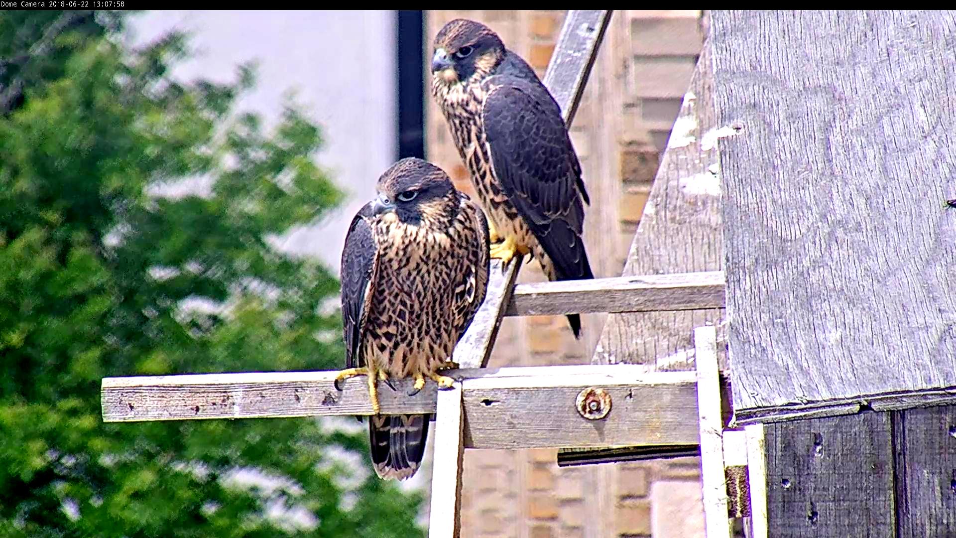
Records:
<instances>
[{"instance_id":1,"label":"head of the lower, front-facing falcon","mask_svg":"<svg viewBox=\"0 0 956 538\"><path fill-rule=\"evenodd\" d=\"M376 186L375 217L413 226L443 226L458 208L458 196L445 170L409 157L385 170Z\"/></svg>"}]
</instances>

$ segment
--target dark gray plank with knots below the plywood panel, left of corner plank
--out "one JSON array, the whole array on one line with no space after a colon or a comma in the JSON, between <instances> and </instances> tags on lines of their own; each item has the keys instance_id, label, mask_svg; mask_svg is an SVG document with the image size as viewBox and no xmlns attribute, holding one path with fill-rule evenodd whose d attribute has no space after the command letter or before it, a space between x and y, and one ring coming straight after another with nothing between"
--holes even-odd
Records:
<instances>
[{"instance_id":1,"label":"dark gray plank with knots below the plywood panel, left of corner plank","mask_svg":"<svg viewBox=\"0 0 956 538\"><path fill-rule=\"evenodd\" d=\"M765 436L771 536L896 536L889 414L769 424Z\"/></svg>"}]
</instances>

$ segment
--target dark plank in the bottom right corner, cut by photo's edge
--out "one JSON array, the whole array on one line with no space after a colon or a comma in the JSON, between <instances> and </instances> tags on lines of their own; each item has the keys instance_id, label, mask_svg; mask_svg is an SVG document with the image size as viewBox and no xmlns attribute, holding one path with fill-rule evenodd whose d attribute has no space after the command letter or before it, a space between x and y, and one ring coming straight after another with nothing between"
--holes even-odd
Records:
<instances>
[{"instance_id":1,"label":"dark plank in the bottom right corner, cut by photo's edge","mask_svg":"<svg viewBox=\"0 0 956 538\"><path fill-rule=\"evenodd\" d=\"M894 413L900 538L956 529L956 407Z\"/></svg>"}]
</instances>

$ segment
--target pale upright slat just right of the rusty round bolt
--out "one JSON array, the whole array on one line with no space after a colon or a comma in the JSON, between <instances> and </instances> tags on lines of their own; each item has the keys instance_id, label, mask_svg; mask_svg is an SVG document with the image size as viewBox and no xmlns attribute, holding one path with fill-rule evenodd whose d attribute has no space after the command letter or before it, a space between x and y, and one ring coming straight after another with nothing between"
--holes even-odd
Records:
<instances>
[{"instance_id":1,"label":"pale upright slat just right of the rusty round bolt","mask_svg":"<svg viewBox=\"0 0 956 538\"><path fill-rule=\"evenodd\" d=\"M724 420L721 417L717 368L717 331L712 326L694 329L697 358L697 413L700 419L701 480L707 538L730 538L727 482L724 475Z\"/></svg>"}]
</instances>

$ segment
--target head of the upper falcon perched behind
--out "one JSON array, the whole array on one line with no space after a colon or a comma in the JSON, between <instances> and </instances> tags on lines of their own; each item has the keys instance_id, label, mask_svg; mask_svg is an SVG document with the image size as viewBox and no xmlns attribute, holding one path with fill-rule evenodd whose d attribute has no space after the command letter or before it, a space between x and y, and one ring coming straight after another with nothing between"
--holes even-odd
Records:
<instances>
[{"instance_id":1,"label":"head of the upper falcon perched behind","mask_svg":"<svg viewBox=\"0 0 956 538\"><path fill-rule=\"evenodd\" d=\"M498 34L480 22L455 19L435 35L432 77L445 84L488 77L505 58Z\"/></svg>"}]
</instances>

